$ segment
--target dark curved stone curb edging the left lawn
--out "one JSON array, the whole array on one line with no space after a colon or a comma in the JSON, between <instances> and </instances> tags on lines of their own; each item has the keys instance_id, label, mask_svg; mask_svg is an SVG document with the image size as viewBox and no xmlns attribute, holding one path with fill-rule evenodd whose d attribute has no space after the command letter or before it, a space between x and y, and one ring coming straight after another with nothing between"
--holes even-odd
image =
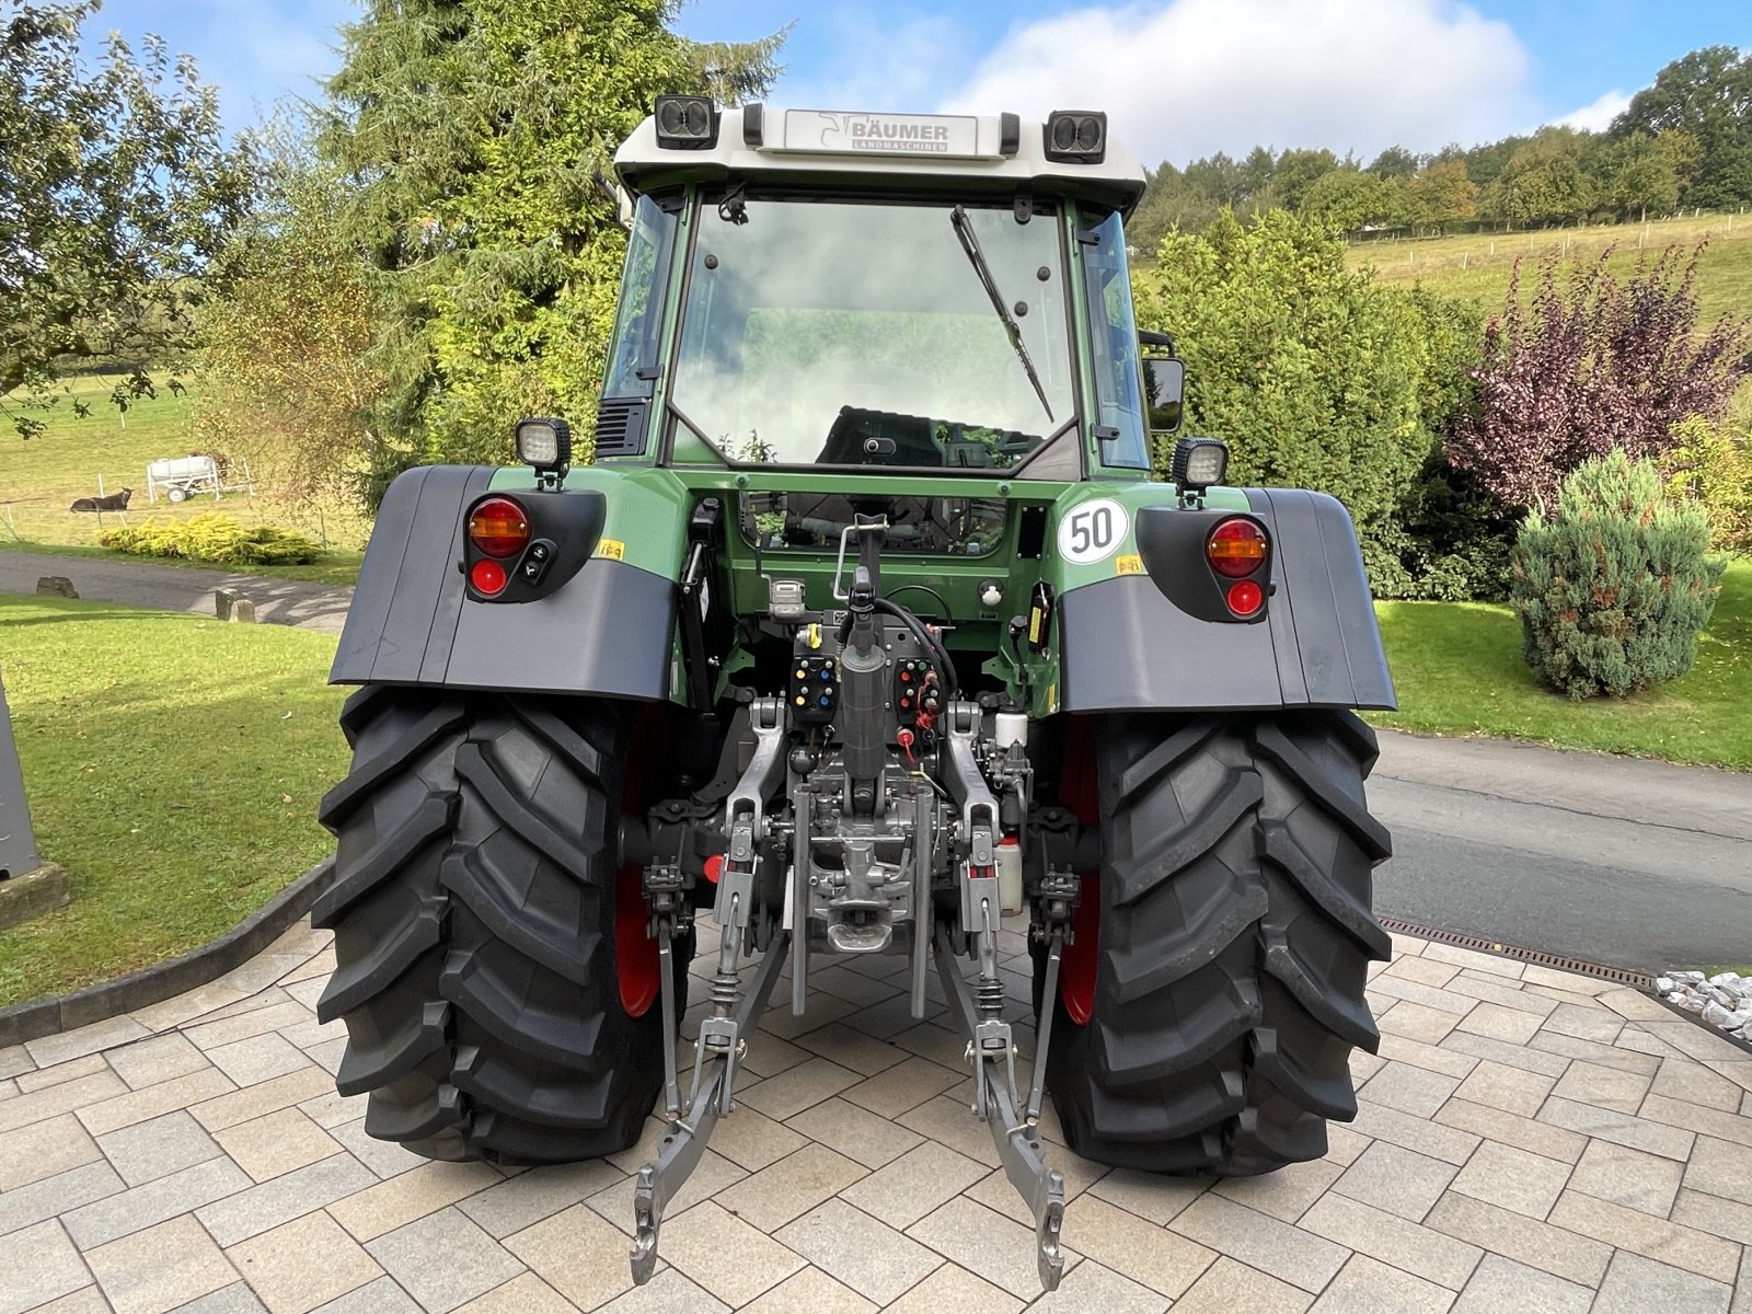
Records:
<instances>
[{"instance_id":1,"label":"dark curved stone curb edging the left lawn","mask_svg":"<svg viewBox=\"0 0 1752 1314\"><path fill-rule=\"evenodd\" d=\"M51 999L33 999L0 1009L0 1049L44 1035L114 1018L117 1013L161 1004L186 990L224 976L277 941L335 880L335 858L317 865L280 890L231 930L180 958L142 967L114 981L74 990Z\"/></svg>"}]
</instances>

